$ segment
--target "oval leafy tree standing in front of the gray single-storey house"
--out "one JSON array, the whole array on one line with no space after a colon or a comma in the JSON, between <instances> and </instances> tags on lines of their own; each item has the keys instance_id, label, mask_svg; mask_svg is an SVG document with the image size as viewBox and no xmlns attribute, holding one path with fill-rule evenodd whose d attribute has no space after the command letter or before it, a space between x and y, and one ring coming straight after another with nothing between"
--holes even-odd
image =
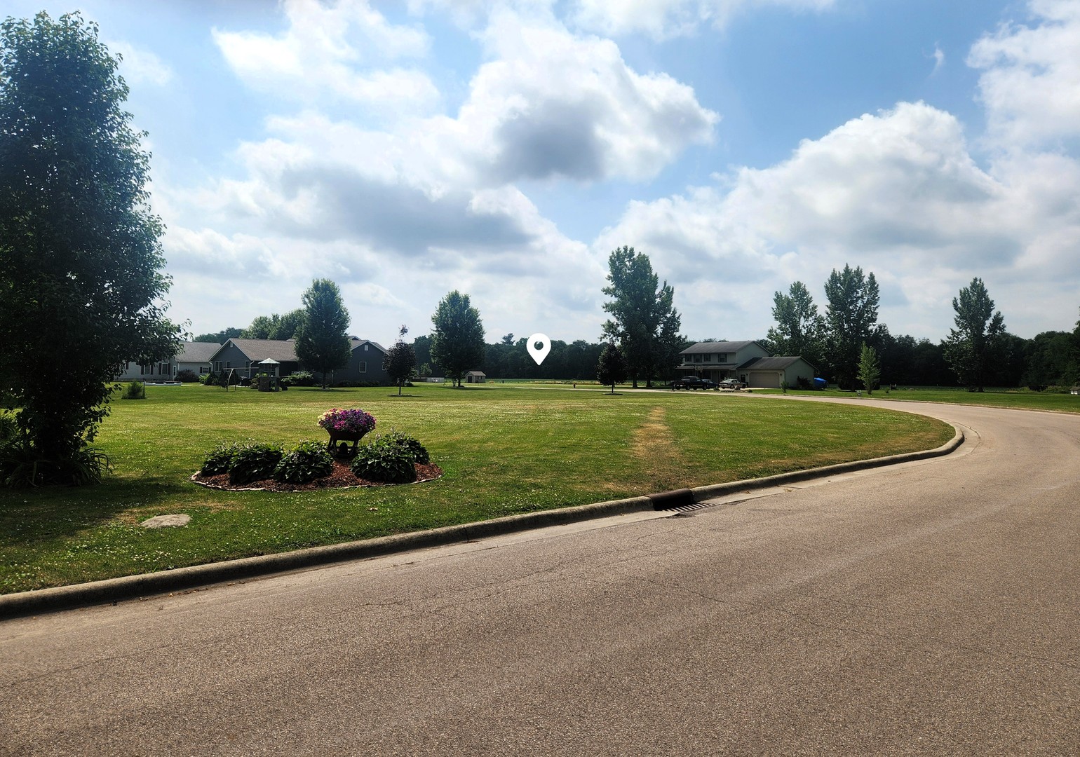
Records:
<instances>
[{"instance_id":1,"label":"oval leafy tree standing in front of the gray single-storey house","mask_svg":"<svg viewBox=\"0 0 1080 757\"><path fill-rule=\"evenodd\" d=\"M330 373L349 364L349 311L329 279L314 280L300 299L303 317L295 337L296 356L308 370L322 376L326 389Z\"/></svg>"}]
</instances>

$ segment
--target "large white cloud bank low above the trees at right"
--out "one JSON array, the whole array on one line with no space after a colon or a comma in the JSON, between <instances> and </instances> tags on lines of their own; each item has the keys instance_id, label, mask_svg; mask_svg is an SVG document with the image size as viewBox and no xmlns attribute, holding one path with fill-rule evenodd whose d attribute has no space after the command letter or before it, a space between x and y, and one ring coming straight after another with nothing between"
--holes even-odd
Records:
<instances>
[{"instance_id":1,"label":"large white cloud bank low above the trees at right","mask_svg":"<svg viewBox=\"0 0 1080 757\"><path fill-rule=\"evenodd\" d=\"M914 323L919 336L944 335L972 270L1021 333L1038 319L1032 285L1043 306L1075 310L1075 292L1061 285L1080 272L1080 165L1070 158L1013 157L986 172L953 116L902 103L804 140L772 167L720 178L632 203L594 245L648 253L678 285L691 332L708 321L694 313L728 310L755 313L750 333L759 335L774 290L799 280L820 292L845 261L888 287L882 321Z\"/></svg>"}]
</instances>

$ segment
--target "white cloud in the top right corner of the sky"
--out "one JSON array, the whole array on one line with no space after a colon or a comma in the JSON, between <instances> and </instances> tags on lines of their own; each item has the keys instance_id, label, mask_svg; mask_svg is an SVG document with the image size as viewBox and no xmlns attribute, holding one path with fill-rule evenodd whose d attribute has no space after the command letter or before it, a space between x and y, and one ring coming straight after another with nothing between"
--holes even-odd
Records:
<instances>
[{"instance_id":1,"label":"white cloud in the top right corner of the sky","mask_svg":"<svg viewBox=\"0 0 1080 757\"><path fill-rule=\"evenodd\" d=\"M1036 26L1002 25L975 43L980 99L989 136L1005 149L1080 135L1080 3L1035 0Z\"/></svg>"}]
</instances>

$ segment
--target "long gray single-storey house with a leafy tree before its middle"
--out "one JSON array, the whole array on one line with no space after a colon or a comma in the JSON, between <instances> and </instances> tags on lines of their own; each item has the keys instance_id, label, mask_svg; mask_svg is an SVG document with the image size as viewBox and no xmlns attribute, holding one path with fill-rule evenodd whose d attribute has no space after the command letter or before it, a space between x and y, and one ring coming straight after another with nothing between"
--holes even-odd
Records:
<instances>
[{"instance_id":1,"label":"long gray single-storey house with a leafy tree before its middle","mask_svg":"<svg viewBox=\"0 0 1080 757\"><path fill-rule=\"evenodd\" d=\"M390 378L382 369L387 351L370 339L349 337L349 364L333 371L330 383L389 383ZM246 378L261 373L259 363L265 360L278 361L279 376L305 369L296 356L293 339L229 339L212 356L212 367L214 373L234 369Z\"/></svg>"}]
</instances>

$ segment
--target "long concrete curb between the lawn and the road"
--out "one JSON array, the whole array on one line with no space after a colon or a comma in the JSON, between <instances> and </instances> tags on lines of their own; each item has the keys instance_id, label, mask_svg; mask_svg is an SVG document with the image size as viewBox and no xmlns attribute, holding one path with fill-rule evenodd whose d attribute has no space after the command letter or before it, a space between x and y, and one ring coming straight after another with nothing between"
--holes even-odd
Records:
<instances>
[{"instance_id":1,"label":"long concrete curb between the lawn and the road","mask_svg":"<svg viewBox=\"0 0 1080 757\"><path fill-rule=\"evenodd\" d=\"M848 473L851 471L860 471L870 468L879 468L882 465L893 465L901 462L910 462L913 460L941 457L954 451L962 443L963 432L957 428L956 435L950 442L937 447L936 449L930 449L921 452L908 452L906 455L893 455L890 457L876 458L874 460L861 460L858 462L848 462L838 465L826 465L824 468L813 468L806 471L796 471L794 473L782 473L780 475L767 476L765 478L752 478L731 482L728 484L699 486L693 489L676 489L674 491L664 491L656 495L649 495L647 497L632 497L630 499L583 504L576 508L563 508L559 510L546 510L539 513L510 515L508 517L494 518L491 521L483 521L481 523L446 526L444 528L434 528L429 531L417 531L414 533L397 533L394 536L367 539L365 541L348 542L345 544L314 546L307 550L297 550L295 552L285 552L275 555L261 555L258 557L246 557L244 559L228 560L225 563L211 563L208 565L195 565L189 568L162 570L160 572L145 573L141 576L124 576L122 578L93 581L90 583L80 583L70 586L56 586L54 589L40 589L32 592L3 594L0 595L0 620L45 612L56 612L59 610L68 610L87 605L114 604L123 599L133 599L152 594L184 591L212 583L238 581L257 576L283 572L286 570L297 570L300 568L310 568L332 563L342 563L350 559L369 559L399 552L474 541L485 537L513 533L515 531L543 528L545 526L578 523L581 521L607 517L609 515L635 513L644 510L667 510L685 504L694 504L706 499L725 497L740 491L767 489L775 486L783 486L785 484L808 481L811 478L821 478L840 473Z\"/></svg>"}]
</instances>

